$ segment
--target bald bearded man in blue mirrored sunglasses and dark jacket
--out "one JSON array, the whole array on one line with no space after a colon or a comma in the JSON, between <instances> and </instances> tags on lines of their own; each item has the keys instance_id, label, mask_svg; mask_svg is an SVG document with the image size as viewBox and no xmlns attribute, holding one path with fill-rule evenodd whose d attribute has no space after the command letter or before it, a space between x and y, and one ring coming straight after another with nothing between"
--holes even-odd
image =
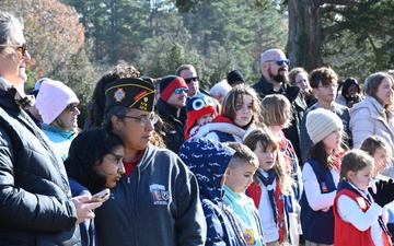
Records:
<instances>
[{"instance_id":1,"label":"bald bearded man in blue mirrored sunglasses and dark jacket","mask_svg":"<svg viewBox=\"0 0 394 246\"><path fill-rule=\"evenodd\" d=\"M300 125L308 106L300 89L289 84L289 66L290 60L286 58L282 50L266 50L260 56L262 78L252 87L260 98L270 94L282 94L290 101L292 107L291 126L283 129L283 132L293 144L296 154L301 161Z\"/></svg>"}]
</instances>

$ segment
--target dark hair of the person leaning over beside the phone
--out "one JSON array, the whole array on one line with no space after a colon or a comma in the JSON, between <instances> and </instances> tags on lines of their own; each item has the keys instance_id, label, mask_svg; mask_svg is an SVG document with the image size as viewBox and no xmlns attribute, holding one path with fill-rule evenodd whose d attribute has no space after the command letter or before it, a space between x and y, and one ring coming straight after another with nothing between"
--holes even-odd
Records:
<instances>
[{"instance_id":1,"label":"dark hair of the person leaning over beside the phone","mask_svg":"<svg viewBox=\"0 0 394 246\"><path fill-rule=\"evenodd\" d=\"M101 190L106 177L97 174L94 166L101 164L106 154L124 143L118 136L103 128L82 131L71 143L69 156L65 161L67 174L92 194Z\"/></svg>"}]
</instances>

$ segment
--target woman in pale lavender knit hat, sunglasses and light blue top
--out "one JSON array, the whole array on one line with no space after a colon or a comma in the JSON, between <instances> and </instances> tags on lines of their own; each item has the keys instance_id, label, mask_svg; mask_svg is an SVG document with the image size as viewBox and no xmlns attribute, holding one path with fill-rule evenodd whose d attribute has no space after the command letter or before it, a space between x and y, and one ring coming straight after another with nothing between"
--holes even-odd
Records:
<instances>
[{"instance_id":1,"label":"woman in pale lavender knit hat, sunglasses and light blue top","mask_svg":"<svg viewBox=\"0 0 394 246\"><path fill-rule=\"evenodd\" d=\"M62 82L47 79L42 83L36 99L43 118L42 129L63 161L78 134L78 116L81 114L78 104L76 93Z\"/></svg>"}]
</instances>

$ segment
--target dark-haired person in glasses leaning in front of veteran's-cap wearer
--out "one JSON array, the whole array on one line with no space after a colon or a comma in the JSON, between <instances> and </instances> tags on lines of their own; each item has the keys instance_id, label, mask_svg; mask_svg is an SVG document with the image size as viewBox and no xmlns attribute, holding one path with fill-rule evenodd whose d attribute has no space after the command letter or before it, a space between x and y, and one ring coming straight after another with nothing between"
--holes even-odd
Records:
<instances>
[{"instance_id":1,"label":"dark-haired person in glasses leaning in front of veteran's-cap wearer","mask_svg":"<svg viewBox=\"0 0 394 246\"><path fill-rule=\"evenodd\" d=\"M124 155L124 143L116 134L102 128L80 133L72 141L69 157L65 161L72 195L101 194L105 188L114 188L125 173ZM97 197L107 199L108 195L106 189ZM96 245L93 220L86 219L80 224L83 246Z\"/></svg>"}]
</instances>

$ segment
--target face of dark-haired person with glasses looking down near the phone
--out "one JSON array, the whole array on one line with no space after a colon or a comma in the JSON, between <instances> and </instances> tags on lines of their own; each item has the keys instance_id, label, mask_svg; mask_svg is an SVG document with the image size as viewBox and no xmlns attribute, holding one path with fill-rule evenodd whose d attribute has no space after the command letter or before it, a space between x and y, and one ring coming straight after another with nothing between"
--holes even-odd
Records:
<instances>
[{"instance_id":1,"label":"face of dark-haired person with glasses looking down near the phone","mask_svg":"<svg viewBox=\"0 0 394 246\"><path fill-rule=\"evenodd\" d=\"M104 155L103 162L95 166L95 171L106 177L105 188L114 188L116 183L120 180L125 173L123 159L125 156L125 148L119 145L112 153Z\"/></svg>"}]
</instances>

